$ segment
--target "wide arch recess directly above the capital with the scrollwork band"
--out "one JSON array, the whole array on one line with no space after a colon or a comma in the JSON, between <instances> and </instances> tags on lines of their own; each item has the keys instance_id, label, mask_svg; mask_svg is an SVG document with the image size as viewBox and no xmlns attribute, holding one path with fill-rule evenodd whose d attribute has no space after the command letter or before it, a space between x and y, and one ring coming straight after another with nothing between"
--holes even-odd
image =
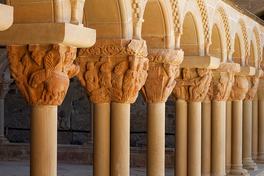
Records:
<instances>
[{"instance_id":1,"label":"wide arch recess directly above the capital with the scrollwork band","mask_svg":"<svg viewBox=\"0 0 264 176\"><path fill-rule=\"evenodd\" d=\"M84 27L96 29L96 39L131 39L130 0L90 0L84 3Z\"/></svg>"}]
</instances>

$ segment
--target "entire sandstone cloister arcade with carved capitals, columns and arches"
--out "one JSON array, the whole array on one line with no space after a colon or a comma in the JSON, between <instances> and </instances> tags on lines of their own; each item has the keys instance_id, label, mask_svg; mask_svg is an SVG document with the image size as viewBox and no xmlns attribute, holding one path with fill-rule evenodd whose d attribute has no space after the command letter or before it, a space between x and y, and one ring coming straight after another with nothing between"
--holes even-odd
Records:
<instances>
[{"instance_id":1,"label":"entire sandstone cloister arcade with carved capitals, columns and arches","mask_svg":"<svg viewBox=\"0 0 264 176\"><path fill-rule=\"evenodd\" d=\"M0 143L15 81L31 106L30 175L56 175L57 106L73 76L93 103L93 175L129 175L138 95L147 175L164 175L171 94L175 175L249 175L264 164L264 22L233 1L6 0L0 16Z\"/></svg>"}]
</instances>

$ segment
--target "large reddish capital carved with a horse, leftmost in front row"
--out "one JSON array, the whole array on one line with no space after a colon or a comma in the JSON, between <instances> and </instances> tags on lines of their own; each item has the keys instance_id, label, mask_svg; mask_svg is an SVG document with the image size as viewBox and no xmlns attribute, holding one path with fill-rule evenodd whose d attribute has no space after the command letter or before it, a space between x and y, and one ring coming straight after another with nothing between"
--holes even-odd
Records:
<instances>
[{"instance_id":1,"label":"large reddish capital carved with a horse, leftmost in front row","mask_svg":"<svg viewBox=\"0 0 264 176\"><path fill-rule=\"evenodd\" d=\"M7 46L10 72L28 105L60 105L69 78L79 72L73 64L77 49L62 44Z\"/></svg>"}]
</instances>

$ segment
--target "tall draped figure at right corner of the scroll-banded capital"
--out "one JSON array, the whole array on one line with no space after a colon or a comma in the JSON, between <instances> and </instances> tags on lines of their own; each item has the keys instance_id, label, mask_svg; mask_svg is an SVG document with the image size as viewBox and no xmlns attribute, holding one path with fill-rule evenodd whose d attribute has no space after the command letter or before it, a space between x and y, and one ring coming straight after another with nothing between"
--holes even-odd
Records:
<instances>
[{"instance_id":1,"label":"tall draped figure at right corner of the scroll-banded capital","mask_svg":"<svg viewBox=\"0 0 264 176\"><path fill-rule=\"evenodd\" d=\"M136 71L137 62L132 60L129 62L129 69L126 71L122 88L123 88L123 96L122 101L126 102L129 97L134 97L136 84L138 84L138 73ZM136 83L137 81L137 83ZM132 95L131 95L132 94Z\"/></svg>"}]
</instances>

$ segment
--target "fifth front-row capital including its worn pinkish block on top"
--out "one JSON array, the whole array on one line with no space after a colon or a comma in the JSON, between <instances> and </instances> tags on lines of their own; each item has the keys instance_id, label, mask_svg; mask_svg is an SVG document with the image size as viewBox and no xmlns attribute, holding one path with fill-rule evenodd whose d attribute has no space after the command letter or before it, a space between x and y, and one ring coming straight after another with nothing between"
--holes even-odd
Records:
<instances>
[{"instance_id":1,"label":"fifth front-row capital including its worn pinkish block on top","mask_svg":"<svg viewBox=\"0 0 264 176\"><path fill-rule=\"evenodd\" d=\"M212 80L208 91L211 101L228 100L234 82L234 74L238 72L240 72L240 65L230 62L221 62L217 69L212 70Z\"/></svg>"}]
</instances>

